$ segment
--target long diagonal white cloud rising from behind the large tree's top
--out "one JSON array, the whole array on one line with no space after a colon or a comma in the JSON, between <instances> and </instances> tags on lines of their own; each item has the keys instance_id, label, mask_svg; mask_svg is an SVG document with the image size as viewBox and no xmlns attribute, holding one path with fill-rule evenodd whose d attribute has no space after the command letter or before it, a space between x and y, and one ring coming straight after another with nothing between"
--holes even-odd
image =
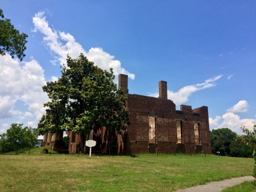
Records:
<instances>
[{"instance_id":1,"label":"long diagonal white cloud rising from behind the large tree's top","mask_svg":"<svg viewBox=\"0 0 256 192\"><path fill-rule=\"evenodd\" d=\"M76 42L75 38L69 33L63 31L55 31L51 29L44 17L44 12L38 12L33 18L35 25L34 31L39 31L44 35L44 42L49 46L51 52L54 54L54 59L51 61L54 65L56 63L66 63L67 54L71 58L78 58L80 53L83 53L90 61L93 61L95 65L103 70L109 70L113 68L115 81L117 82L118 74L126 74L131 79L134 79L135 75L129 73L127 70L121 67L121 62L115 60L113 55L103 51L101 47L91 48L86 52L82 45Z\"/></svg>"}]
</instances>

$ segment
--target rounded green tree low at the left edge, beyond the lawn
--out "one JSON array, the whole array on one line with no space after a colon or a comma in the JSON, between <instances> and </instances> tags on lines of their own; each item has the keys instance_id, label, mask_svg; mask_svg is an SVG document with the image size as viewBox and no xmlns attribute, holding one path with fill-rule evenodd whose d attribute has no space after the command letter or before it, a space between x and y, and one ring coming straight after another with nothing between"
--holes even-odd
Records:
<instances>
[{"instance_id":1,"label":"rounded green tree low at the left edge, beyond the lawn","mask_svg":"<svg viewBox=\"0 0 256 192\"><path fill-rule=\"evenodd\" d=\"M37 130L28 126L22 128L22 125L13 123L6 133L0 135L0 153L24 149L36 144Z\"/></svg>"}]
</instances>

